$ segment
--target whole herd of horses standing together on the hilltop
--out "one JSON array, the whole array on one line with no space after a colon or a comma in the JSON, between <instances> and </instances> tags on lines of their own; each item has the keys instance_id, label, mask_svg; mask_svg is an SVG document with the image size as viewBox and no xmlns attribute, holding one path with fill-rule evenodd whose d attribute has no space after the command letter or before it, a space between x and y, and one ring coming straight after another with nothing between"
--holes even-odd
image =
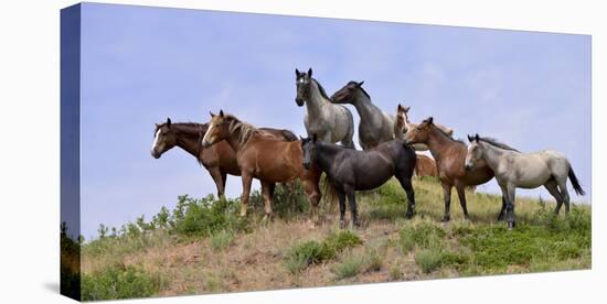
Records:
<instances>
[{"instance_id":1,"label":"whole herd of horses standing together on the hilltop","mask_svg":"<svg viewBox=\"0 0 607 304\"><path fill-rule=\"evenodd\" d=\"M396 177L406 193L406 217L415 213L414 173L437 176L444 191L444 221L450 220L451 189L455 187L465 218L467 187L496 177L502 191L498 220L515 226L515 188L544 186L569 211L567 178L574 191L584 191L565 155L554 150L520 152L491 138L468 135L469 144L454 139L451 128L435 123L432 117L420 123L408 118L409 107L397 106L396 115L382 111L371 101L363 82L349 82L332 96L312 78L312 69L296 73L297 106L306 106L303 124L307 138L297 138L286 129L256 128L220 110L207 123L157 123L151 148L153 158L180 146L192 154L211 174L217 195L224 196L226 175L241 176L241 216L246 216L253 178L259 180L265 218L273 215L271 200L276 183L299 180L311 205L311 220L318 224L321 174L337 194L340 227L345 226L345 202L351 225L360 226L356 191L380 187ZM352 105L360 116L359 145L353 143L354 120L344 106ZM341 144L337 144L340 142ZM433 158L416 151L429 151Z\"/></svg>"}]
</instances>

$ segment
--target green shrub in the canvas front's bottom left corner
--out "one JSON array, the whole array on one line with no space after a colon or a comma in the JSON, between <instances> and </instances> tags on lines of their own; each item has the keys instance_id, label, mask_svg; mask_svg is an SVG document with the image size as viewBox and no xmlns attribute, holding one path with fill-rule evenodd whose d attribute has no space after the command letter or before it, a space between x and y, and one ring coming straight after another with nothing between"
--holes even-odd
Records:
<instances>
[{"instance_id":1,"label":"green shrub in the canvas front's bottom left corner","mask_svg":"<svg viewBox=\"0 0 607 304\"><path fill-rule=\"evenodd\" d=\"M82 276L83 301L149 297L158 294L161 279L132 265L111 265Z\"/></svg>"}]
</instances>

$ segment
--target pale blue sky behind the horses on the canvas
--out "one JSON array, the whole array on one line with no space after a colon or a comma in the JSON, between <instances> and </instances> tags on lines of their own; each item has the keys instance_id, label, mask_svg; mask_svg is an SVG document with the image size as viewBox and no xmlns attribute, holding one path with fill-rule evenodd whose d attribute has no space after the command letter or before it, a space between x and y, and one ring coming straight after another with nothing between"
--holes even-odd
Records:
<instances>
[{"instance_id":1,"label":"pale blue sky behind the horses on the canvas","mask_svg":"<svg viewBox=\"0 0 607 304\"><path fill-rule=\"evenodd\" d=\"M180 194L215 193L207 172L179 148L150 156L155 122L205 122L209 110L224 109L305 134L296 67L312 67L329 94L365 80L385 111L403 102L415 122L434 116L459 138L478 132L522 151L560 150L588 193L573 199L590 200L588 35L85 3L85 237L100 222L149 219ZM494 181L479 189L499 192ZM239 195L239 177L228 177L226 192ZM550 196L543 188L518 194Z\"/></svg>"}]
</instances>

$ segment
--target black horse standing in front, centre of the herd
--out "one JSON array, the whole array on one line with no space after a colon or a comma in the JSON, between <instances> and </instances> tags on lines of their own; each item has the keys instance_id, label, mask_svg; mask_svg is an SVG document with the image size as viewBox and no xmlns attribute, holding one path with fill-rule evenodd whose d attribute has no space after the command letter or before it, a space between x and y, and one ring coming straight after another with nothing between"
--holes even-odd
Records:
<instances>
[{"instance_id":1,"label":"black horse standing in front, centre of the herd","mask_svg":"<svg viewBox=\"0 0 607 304\"><path fill-rule=\"evenodd\" d=\"M340 228L344 227L345 196L350 202L352 224L360 226L356 213L355 191L373 189L396 176L407 193L406 217L415 209L415 194L411 180L417 158L415 151L402 140L383 142L368 151L356 151L341 145L317 141L317 135L301 139L303 166L316 164L327 174L339 198Z\"/></svg>"}]
</instances>

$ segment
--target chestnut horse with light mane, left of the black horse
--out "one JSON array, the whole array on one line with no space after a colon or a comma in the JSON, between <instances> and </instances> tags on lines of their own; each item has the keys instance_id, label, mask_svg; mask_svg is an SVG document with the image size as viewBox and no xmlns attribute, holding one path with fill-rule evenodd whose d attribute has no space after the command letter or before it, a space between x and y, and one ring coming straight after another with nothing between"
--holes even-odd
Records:
<instances>
[{"instance_id":1,"label":"chestnut horse with light mane, left of the black horse","mask_svg":"<svg viewBox=\"0 0 607 304\"><path fill-rule=\"evenodd\" d=\"M267 132L238 120L232 115L220 111L211 113L210 127L202 144L213 146L225 140L236 152L241 167L243 194L241 196L241 216L246 216L251 183L257 178L262 183L265 216L271 218L271 199L276 183L287 183L299 178L311 205L311 219L318 222L318 203L320 202L319 181L321 172L316 167L306 169L302 164L302 151L299 141L280 141Z\"/></svg>"}]
</instances>

